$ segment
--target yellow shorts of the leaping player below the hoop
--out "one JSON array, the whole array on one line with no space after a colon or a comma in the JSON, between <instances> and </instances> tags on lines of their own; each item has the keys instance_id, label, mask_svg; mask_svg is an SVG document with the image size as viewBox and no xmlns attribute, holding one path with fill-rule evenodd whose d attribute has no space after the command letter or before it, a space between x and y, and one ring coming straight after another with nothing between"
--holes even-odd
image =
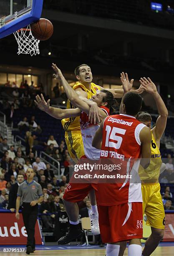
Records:
<instances>
[{"instance_id":1,"label":"yellow shorts of the leaping player below the hoop","mask_svg":"<svg viewBox=\"0 0 174 256\"><path fill-rule=\"evenodd\" d=\"M71 158L77 164L81 156L85 154L81 131L66 131L65 141Z\"/></svg>"}]
</instances>

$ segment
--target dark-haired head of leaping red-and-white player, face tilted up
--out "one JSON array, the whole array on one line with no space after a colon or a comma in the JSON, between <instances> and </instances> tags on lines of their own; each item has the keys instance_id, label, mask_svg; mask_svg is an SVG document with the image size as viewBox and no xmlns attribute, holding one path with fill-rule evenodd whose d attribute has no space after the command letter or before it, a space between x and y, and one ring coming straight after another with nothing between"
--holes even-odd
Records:
<instances>
[{"instance_id":1,"label":"dark-haired head of leaping red-and-white player, face tilted up","mask_svg":"<svg viewBox=\"0 0 174 256\"><path fill-rule=\"evenodd\" d=\"M96 102L98 107L105 106L109 109L110 114L115 110L116 106L118 105L116 99L113 97L113 94L108 90L100 90L93 95L91 100Z\"/></svg>"}]
</instances>

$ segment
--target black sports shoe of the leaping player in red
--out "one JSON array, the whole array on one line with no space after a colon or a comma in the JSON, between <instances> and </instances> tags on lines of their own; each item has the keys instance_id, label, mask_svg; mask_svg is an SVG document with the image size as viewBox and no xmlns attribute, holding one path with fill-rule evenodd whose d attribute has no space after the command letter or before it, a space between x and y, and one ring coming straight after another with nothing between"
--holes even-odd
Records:
<instances>
[{"instance_id":1,"label":"black sports shoe of the leaping player in red","mask_svg":"<svg viewBox=\"0 0 174 256\"><path fill-rule=\"evenodd\" d=\"M71 241L73 241L76 238L80 238L83 236L83 231L78 227L78 228L71 228L71 224L70 224L70 229L68 230L68 233L66 234L66 236L61 237L58 240L58 244L67 244L70 243Z\"/></svg>"}]
</instances>

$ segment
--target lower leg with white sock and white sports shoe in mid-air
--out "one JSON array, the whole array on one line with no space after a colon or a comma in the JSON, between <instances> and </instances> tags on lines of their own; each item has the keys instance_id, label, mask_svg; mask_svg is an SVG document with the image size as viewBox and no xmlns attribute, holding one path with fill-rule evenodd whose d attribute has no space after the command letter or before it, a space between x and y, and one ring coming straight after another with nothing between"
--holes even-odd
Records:
<instances>
[{"instance_id":1,"label":"lower leg with white sock and white sports shoe in mid-air","mask_svg":"<svg viewBox=\"0 0 174 256\"><path fill-rule=\"evenodd\" d=\"M96 202L96 192L92 188L88 194L89 199L91 201L91 231L96 236L100 234L100 228L98 224L98 209L97 209L97 202Z\"/></svg>"}]
</instances>

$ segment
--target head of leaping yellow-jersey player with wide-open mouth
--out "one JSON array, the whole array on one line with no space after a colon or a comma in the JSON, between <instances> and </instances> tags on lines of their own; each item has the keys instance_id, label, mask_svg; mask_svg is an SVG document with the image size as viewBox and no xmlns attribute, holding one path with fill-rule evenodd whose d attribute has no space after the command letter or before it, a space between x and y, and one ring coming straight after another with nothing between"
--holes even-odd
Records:
<instances>
[{"instance_id":1,"label":"head of leaping yellow-jersey player with wide-open mouth","mask_svg":"<svg viewBox=\"0 0 174 256\"><path fill-rule=\"evenodd\" d=\"M83 83L91 83L93 79L93 75L91 72L91 68L87 64L81 64L76 67L75 75L78 81Z\"/></svg>"}]
</instances>

